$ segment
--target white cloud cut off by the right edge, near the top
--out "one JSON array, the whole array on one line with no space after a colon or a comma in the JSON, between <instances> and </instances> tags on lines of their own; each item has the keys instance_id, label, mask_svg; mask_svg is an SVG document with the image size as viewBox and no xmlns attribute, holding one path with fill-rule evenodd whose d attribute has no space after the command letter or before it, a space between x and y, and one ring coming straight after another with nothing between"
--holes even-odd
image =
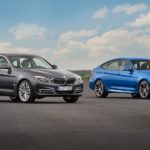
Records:
<instances>
[{"instance_id":1,"label":"white cloud cut off by the right edge, near the top","mask_svg":"<svg viewBox=\"0 0 150 150\"><path fill-rule=\"evenodd\" d=\"M133 22L128 22L127 25L132 27L142 27L150 25L150 12L148 12L146 15L140 15Z\"/></svg>"}]
</instances>

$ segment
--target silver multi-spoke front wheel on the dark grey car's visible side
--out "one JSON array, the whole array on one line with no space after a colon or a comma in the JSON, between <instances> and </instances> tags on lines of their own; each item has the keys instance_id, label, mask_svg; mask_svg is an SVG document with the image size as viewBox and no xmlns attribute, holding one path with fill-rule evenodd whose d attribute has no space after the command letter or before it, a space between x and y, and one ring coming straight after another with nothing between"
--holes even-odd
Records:
<instances>
[{"instance_id":1,"label":"silver multi-spoke front wheel on the dark grey car's visible side","mask_svg":"<svg viewBox=\"0 0 150 150\"><path fill-rule=\"evenodd\" d=\"M18 97L20 102L31 103L34 102L32 86L29 81L23 80L18 87Z\"/></svg>"}]
</instances>

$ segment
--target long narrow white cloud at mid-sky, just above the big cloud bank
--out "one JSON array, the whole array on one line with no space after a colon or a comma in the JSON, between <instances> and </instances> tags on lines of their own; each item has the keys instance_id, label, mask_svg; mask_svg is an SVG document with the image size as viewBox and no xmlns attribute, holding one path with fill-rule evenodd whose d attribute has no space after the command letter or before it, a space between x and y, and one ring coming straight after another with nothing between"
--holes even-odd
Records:
<instances>
[{"instance_id":1,"label":"long narrow white cloud at mid-sky, just above the big cloud bank","mask_svg":"<svg viewBox=\"0 0 150 150\"><path fill-rule=\"evenodd\" d=\"M59 38L61 41L68 41L76 38L91 37L96 34L96 30L81 30L81 31L67 31L62 33Z\"/></svg>"}]
</instances>

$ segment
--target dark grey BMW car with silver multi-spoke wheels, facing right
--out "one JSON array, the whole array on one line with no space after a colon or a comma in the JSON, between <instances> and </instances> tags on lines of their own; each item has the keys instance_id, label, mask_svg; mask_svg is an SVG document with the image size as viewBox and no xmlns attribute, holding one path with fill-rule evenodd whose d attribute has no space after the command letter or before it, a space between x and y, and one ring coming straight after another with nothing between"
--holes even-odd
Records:
<instances>
[{"instance_id":1,"label":"dark grey BMW car with silver multi-spoke wheels, facing right","mask_svg":"<svg viewBox=\"0 0 150 150\"><path fill-rule=\"evenodd\" d=\"M54 96L75 103L82 92L80 76L59 70L40 56L0 54L0 95L9 96L13 102Z\"/></svg>"}]
</instances>

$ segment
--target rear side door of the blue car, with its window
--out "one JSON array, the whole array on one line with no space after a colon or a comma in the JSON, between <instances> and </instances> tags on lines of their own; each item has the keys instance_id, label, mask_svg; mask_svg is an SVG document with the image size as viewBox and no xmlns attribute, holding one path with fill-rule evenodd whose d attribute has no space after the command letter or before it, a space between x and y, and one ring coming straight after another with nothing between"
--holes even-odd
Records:
<instances>
[{"instance_id":1,"label":"rear side door of the blue car, with its window","mask_svg":"<svg viewBox=\"0 0 150 150\"><path fill-rule=\"evenodd\" d=\"M120 85L120 70L118 70L119 60L109 61L101 66L103 69L103 81L109 91L118 89Z\"/></svg>"}]
</instances>

